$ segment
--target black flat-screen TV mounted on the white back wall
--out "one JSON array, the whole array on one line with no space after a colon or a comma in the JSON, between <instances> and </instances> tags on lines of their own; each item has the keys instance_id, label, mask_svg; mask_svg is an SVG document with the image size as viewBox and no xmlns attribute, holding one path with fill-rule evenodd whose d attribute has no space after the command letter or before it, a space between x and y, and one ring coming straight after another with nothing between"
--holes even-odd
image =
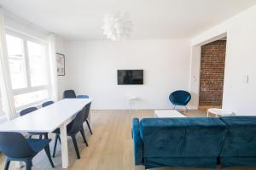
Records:
<instances>
[{"instance_id":1,"label":"black flat-screen TV mounted on the white back wall","mask_svg":"<svg viewBox=\"0 0 256 170\"><path fill-rule=\"evenodd\" d=\"M118 70L118 85L143 84L143 70Z\"/></svg>"}]
</instances>

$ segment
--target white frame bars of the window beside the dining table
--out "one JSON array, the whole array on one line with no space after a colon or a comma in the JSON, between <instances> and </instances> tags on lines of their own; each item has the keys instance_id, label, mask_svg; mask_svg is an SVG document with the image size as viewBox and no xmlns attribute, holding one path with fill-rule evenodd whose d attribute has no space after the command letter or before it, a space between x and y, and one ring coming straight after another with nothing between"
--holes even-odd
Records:
<instances>
[{"instance_id":1,"label":"white frame bars of the window beside the dining table","mask_svg":"<svg viewBox=\"0 0 256 170\"><path fill-rule=\"evenodd\" d=\"M23 48L23 54L24 54L24 59L25 59L26 88L16 88L16 89L12 88L13 97L15 97L15 95L28 94L28 93L37 92L37 91L40 91L40 90L47 90L48 91L48 97L46 99L43 99L43 100L40 100L40 101L35 101L35 102L32 102L32 103L27 104L27 105L21 105L21 106L18 106L18 107L15 106L16 111L20 111L20 110L22 110L26 107L32 106L32 105L39 105L40 103L48 100L50 98L50 72L49 72L49 47L48 47L48 43L44 40L38 39L36 37L29 36L29 35L26 35L26 34L22 34L20 32L13 31L13 30L10 30L8 28L5 29L5 35L18 37L23 41L23 47L22 48ZM38 43L38 44L42 45L43 48L44 48L45 71L46 71L46 77L47 77L46 78L47 79L47 84L46 85L32 87L27 42ZM7 58L8 58L8 61L9 61L9 54L8 54ZM9 74L9 77L10 77L10 74Z\"/></svg>"}]
</instances>

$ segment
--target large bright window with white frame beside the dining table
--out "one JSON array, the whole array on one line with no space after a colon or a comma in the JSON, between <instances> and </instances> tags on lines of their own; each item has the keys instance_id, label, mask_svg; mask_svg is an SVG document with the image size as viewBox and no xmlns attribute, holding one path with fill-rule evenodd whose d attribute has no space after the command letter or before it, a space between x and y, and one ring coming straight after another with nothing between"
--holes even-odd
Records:
<instances>
[{"instance_id":1,"label":"large bright window with white frame beside the dining table","mask_svg":"<svg viewBox=\"0 0 256 170\"><path fill-rule=\"evenodd\" d=\"M47 46L43 41L7 31L9 73L17 110L49 98Z\"/></svg>"}]
</instances>

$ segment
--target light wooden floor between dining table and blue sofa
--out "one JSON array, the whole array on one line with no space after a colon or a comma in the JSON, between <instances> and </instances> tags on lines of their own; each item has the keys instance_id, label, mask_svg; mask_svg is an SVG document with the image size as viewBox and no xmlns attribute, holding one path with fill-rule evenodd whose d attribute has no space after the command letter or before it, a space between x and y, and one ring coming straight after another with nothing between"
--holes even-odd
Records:
<instances>
[{"instance_id":1,"label":"light wooden floor between dining table and blue sofa","mask_svg":"<svg viewBox=\"0 0 256 170\"><path fill-rule=\"evenodd\" d=\"M186 116L206 116L203 111L187 111ZM154 111L92 111L93 135L85 127L89 147L86 147L80 135L77 136L81 159L78 160L73 149L72 140L68 140L69 168L73 170L143 170L143 166L134 166L131 139L132 117L152 117ZM49 136L54 139L53 135ZM53 141L50 144L53 150ZM3 168L4 156L0 156L0 168ZM55 169L61 169L61 148L58 144L56 157L53 158ZM15 168L12 162L9 169ZM24 168L23 168L24 169ZM33 159L32 169L53 169L44 153L40 152ZM154 168L154 170L201 170L205 168ZM217 167L216 169L220 169ZM256 170L256 167L233 167L229 170Z\"/></svg>"}]
</instances>

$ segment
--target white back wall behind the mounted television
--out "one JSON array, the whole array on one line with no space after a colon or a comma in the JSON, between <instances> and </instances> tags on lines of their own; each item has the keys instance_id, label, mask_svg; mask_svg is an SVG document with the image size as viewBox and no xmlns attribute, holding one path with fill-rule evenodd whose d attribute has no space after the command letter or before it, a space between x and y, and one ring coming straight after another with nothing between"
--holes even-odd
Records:
<instances>
[{"instance_id":1,"label":"white back wall behind the mounted television","mask_svg":"<svg viewBox=\"0 0 256 170\"><path fill-rule=\"evenodd\" d=\"M188 40L69 41L67 88L95 99L94 109L127 109L126 96L137 96L138 109L166 109L169 94L189 89ZM144 85L117 85L118 69L143 69Z\"/></svg>"}]
</instances>

